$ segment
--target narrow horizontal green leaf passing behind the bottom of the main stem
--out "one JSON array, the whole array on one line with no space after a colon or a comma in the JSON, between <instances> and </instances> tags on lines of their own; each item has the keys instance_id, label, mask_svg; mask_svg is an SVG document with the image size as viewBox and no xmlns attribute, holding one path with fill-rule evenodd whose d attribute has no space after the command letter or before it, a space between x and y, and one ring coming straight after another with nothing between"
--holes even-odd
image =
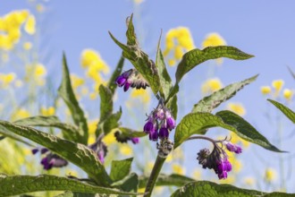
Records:
<instances>
[{"instance_id":1,"label":"narrow horizontal green leaf passing behind the bottom of the main stem","mask_svg":"<svg viewBox=\"0 0 295 197\"><path fill-rule=\"evenodd\" d=\"M139 188L145 188L147 186L147 180L149 176L139 176ZM156 179L156 186L182 186L183 184L188 184L192 181L196 181L187 176L181 176L173 174L170 176L160 174Z\"/></svg>"}]
</instances>

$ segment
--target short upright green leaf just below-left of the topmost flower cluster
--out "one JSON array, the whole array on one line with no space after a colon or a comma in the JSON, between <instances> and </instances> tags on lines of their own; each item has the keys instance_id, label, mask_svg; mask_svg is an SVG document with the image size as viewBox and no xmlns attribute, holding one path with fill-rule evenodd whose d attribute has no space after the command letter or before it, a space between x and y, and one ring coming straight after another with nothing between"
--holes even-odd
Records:
<instances>
[{"instance_id":1,"label":"short upright green leaf just below-left of the topmost flower cluster","mask_svg":"<svg viewBox=\"0 0 295 197\"><path fill-rule=\"evenodd\" d=\"M99 86L100 96L100 121L103 122L113 112L113 93L103 84Z\"/></svg>"}]
</instances>

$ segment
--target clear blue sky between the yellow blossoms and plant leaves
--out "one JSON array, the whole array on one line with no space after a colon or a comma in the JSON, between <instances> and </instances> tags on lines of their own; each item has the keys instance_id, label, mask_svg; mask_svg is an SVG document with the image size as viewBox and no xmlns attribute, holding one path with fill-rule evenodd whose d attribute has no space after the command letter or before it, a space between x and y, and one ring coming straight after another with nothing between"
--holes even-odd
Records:
<instances>
[{"instance_id":1,"label":"clear blue sky between the yellow blossoms and plant leaves","mask_svg":"<svg viewBox=\"0 0 295 197\"><path fill-rule=\"evenodd\" d=\"M259 73L257 81L242 90L232 100L244 104L247 108L245 118L275 144L276 125L269 124L264 115L267 110L273 113L275 110L267 104L259 89L262 85L271 85L275 79L283 79L285 87L295 89L294 80L287 69L288 65L295 71L295 1L146 0L136 7L131 0L71 2L51 0L46 4L49 12L44 26L47 26L45 33L48 37L44 39L49 38L49 46L53 50L51 61L47 65L52 73L59 71L63 51L67 54L71 70L80 72L80 52L86 47L99 51L106 63L114 66L121 55L121 50L110 39L107 31L110 30L117 39L124 41L125 19L131 13L135 14L135 25L141 47L152 57L155 56L160 30L165 33L178 26L188 27L196 47L200 47L207 33L218 32L228 45L239 47L255 57L247 61L225 59L222 66L215 68L215 75L226 85ZM0 6L0 15L28 7L30 8L26 1L5 0ZM182 100L179 100L179 102L185 102L181 108L183 114L190 112L191 105L200 99L198 83L205 79L206 65L209 64L199 65L182 81L181 85L184 87L182 94L192 92L190 97L181 97ZM169 69L171 73L175 71L174 67ZM194 82L198 86L188 85ZM288 121L286 124L289 124ZM283 136L289 136L293 127L289 129L285 127L285 129ZM291 143L294 140L294 137L287 140L285 144L282 144L282 149L290 150L294 154L291 149ZM187 153L188 158L195 162L185 163L189 170L193 165L197 165L194 159L198 149L200 147ZM265 160L276 157L275 153L257 146L251 150L260 151L261 155L265 155ZM244 157L252 160L253 155L249 151L245 155ZM253 162L259 163L257 158L253 158ZM291 162L292 167L295 167L293 158ZM268 164L272 165L272 162L268 160ZM264 164L260 162L259 167L261 165ZM253 164L249 161L245 167L251 168ZM274 164L274 167L277 167L277 164ZM288 186L289 192L295 192L294 185L289 183Z\"/></svg>"}]
</instances>

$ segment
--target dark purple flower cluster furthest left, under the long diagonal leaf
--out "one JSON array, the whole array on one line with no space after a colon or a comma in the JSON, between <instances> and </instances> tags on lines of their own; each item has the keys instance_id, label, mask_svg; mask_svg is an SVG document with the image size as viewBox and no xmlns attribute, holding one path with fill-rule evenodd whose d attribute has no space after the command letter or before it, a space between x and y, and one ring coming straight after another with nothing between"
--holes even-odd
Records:
<instances>
[{"instance_id":1,"label":"dark purple flower cluster furthest left, under the long diagonal leaf","mask_svg":"<svg viewBox=\"0 0 295 197\"><path fill-rule=\"evenodd\" d=\"M64 167L68 165L68 161L59 157L55 153L50 152L46 148L41 149L33 149L31 150L35 155L38 151L40 151L41 155L46 154L46 157L41 159L40 164L43 165L43 168L46 170L51 169L52 167Z\"/></svg>"}]
</instances>

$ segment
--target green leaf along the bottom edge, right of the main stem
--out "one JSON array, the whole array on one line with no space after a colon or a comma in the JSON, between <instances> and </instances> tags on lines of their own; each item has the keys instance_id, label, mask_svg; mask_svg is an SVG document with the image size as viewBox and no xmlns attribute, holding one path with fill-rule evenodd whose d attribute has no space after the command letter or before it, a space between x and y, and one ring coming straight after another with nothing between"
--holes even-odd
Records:
<instances>
[{"instance_id":1,"label":"green leaf along the bottom edge, right of the main stem","mask_svg":"<svg viewBox=\"0 0 295 197\"><path fill-rule=\"evenodd\" d=\"M198 181L185 184L180 189L176 190L172 197L182 196L206 196L206 197L253 197L253 196L271 196L284 197L294 196L291 193L264 193L256 190L242 189L231 184L215 184L209 181Z\"/></svg>"}]
</instances>

